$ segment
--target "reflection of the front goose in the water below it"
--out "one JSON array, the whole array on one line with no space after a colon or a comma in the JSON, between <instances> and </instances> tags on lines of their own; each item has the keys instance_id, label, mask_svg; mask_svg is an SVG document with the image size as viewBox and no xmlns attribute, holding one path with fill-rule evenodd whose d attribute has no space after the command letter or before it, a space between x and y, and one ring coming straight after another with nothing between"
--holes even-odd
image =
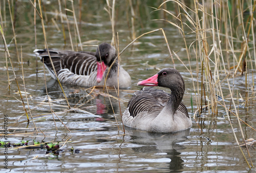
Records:
<instances>
[{"instance_id":1,"label":"reflection of the front goose in the water below it","mask_svg":"<svg viewBox=\"0 0 256 173\"><path fill-rule=\"evenodd\" d=\"M185 147L180 145L179 142L187 140L187 136L190 133L190 129L180 131L176 133L151 133L143 131L133 131L129 127L125 127L125 132L131 134L131 142L140 144L143 146L132 148L135 152L143 153L166 153L167 155L161 155L170 159L169 170L183 169L183 160L179 156L181 150Z\"/></svg>"}]
</instances>

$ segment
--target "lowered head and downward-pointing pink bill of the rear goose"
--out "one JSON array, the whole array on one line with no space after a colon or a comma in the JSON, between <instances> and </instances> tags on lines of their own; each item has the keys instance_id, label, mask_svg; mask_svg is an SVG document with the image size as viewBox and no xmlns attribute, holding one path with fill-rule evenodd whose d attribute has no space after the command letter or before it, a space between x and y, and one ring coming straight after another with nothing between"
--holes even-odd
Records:
<instances>
[{"instance_id":1,"label":"lowered head and downward-pointing pink bill of the rear goose","mask_svg":"<svg viewBox=\"0 0 256 173\"><path fill-rule=\"evenodd\" d=\"M103 77L103 74L107 67L110 67L114 61L116 54L116 49L103 42L99 45L96 50L95 57L97 58L97 82L99 83Z\"/></svg>"}]
</instances>

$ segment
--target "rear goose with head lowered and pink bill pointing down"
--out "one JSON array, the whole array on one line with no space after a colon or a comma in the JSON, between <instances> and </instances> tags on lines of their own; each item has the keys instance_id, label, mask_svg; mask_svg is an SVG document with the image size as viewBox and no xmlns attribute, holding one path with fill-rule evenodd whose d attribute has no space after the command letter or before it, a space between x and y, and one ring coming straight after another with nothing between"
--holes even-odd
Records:
<instances>
[{"instance_id":1,"label":"rear goose with head lowered and pink bill pointing down","mask_svg":"<svg viewBox=\"0 0 256 173\"><path fill-rule=\"evenodd\" d=\"M44 59L45 67L56 79L47 50L36 49L34 53L39 55L41 61ZM103 75L106 77L117 56L115 48L105 42L98 46L96 52L49 50L49 53L59 81L81 87L104 85ZM118 61L115 61L106 79L106 86L117 87L118 78L120 88L131 85L130 75L121 66L118 77Z\"/></svg>"}]
</instances>

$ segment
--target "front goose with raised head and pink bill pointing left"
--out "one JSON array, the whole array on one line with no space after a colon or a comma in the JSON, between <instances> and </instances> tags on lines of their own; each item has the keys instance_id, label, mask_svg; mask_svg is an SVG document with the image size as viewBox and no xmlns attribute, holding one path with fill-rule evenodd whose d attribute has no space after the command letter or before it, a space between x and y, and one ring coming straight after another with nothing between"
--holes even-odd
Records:
<instances>
[{"instance_id":1,"label":"front goose with raised head and pink bill pointing left","mask_svg":"<svg viewBox=\"0 0 256 173\"><path fill-rule=\"evenodd\" d=\"M162 69L156 75L139 81L138 85L151 87L134 93L122 115L125 126L158 133L182 131L192 126L186 106L181 102L185 84L177 70ZM171 93L153 86L169 88Z\"/></svg>"}]
</instances>

